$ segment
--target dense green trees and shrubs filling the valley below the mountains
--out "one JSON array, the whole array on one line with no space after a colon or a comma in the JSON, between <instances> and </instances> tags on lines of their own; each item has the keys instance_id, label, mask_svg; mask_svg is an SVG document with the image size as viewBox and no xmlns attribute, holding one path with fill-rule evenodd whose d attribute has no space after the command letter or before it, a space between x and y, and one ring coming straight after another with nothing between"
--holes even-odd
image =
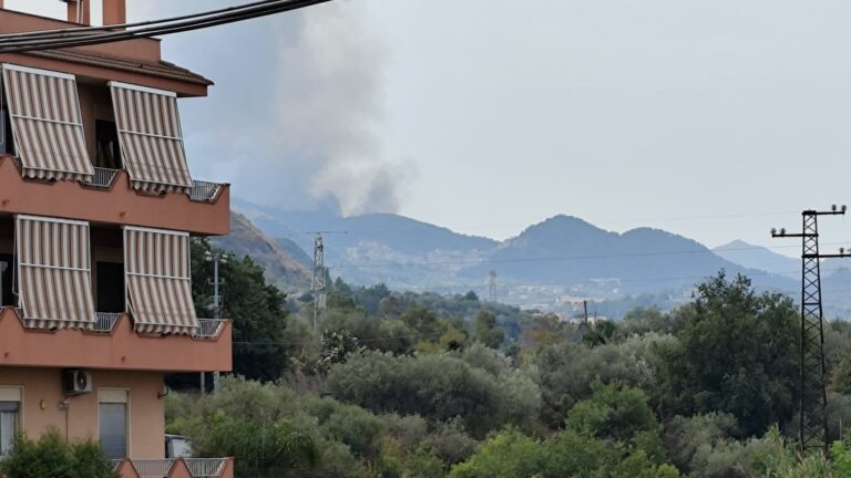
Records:
<instances>
[{"instance_id":1,"label":"dense green trees and shrubs filling the valley below the mountains","mask_svg":"<svg viewBox=\"0 0 851 478\"><path fill-rule=\"evenodd\" d=\"M196 256L208 247L196 245ZM851 326L826 329L829 457L794 454L798 311L707 279L669 313L582 324L337 280L312 328L245 258L224 266L235 368L170 396L172 433L240 476L840 477L851 454ZM196 284L204 282L196 279ZM198 304L208 291L195 291ZM847 435L845 435L847 436Z\"/></svg>"}]
</instances>

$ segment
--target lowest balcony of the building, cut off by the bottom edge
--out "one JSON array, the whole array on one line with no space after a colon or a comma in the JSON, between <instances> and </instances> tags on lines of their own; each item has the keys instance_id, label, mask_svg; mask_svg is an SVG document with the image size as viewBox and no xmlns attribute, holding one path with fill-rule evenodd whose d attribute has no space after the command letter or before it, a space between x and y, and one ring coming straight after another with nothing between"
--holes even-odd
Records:
<instances>
[{"instance_id":1,"label":"lowest balcony of the building, cut off by the bottom edge","mask_svg":"<svg viewBox=\"0 0 851 478\"><path fill-rule=\"evenodd\" d=\"M233 478L233 458L113 460L121 478Z\"/></svg>"}]
</instances>

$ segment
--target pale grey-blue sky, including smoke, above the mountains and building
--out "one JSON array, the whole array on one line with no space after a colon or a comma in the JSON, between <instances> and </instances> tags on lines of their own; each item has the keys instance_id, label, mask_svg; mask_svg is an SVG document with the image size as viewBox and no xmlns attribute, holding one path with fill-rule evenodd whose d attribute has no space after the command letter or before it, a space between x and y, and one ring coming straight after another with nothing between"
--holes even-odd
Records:
<instances>
[{"instance_id":1,"label":"pale grey-blue sky, including smoke, above the mountains and building","mask_svg":"<svg viewBox=\"0 0 851 478\"><path fill-rule=\"evenodd\" d=\"M495 239L565 214L794 254L771 227L851 202L847 1L337 0L163 50L216 82L181 102L194 176L262 205ZM850 222L823 240L851 243Z\"/></svg>"}]
</instances>

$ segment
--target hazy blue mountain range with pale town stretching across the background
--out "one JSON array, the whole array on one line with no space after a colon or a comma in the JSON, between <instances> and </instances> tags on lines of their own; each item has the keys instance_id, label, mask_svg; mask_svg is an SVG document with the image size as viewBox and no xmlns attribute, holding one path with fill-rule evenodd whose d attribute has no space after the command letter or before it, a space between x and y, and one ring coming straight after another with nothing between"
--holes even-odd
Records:
<instances>
[{"instance_id":1,"label":"hazy blue mountain range with pale town stretching across the background","mask_svg":"<svg viewBox=\"0 0 851 478\"><path fill-rule=\"evenodd\" d=\"M460 235L403 216L368 214L342 218L319 211L285 211L235 202L278 246L309 268L310 231L326 231L331 276L355 284L488 294L491 270L501 300L550 303L635 294L686 297L695 283L724 269L745 273L763 289L796 291L793 278L737 263L691 239L659 229L624 233L575 217L556 216L503 242ZM303 250L293 251L298 245ZM281 248L285 249L285 248ZM731 249L731 248L728 248ZM771 272L771 271L768 271Z\"/></svg>"}]
</instances>

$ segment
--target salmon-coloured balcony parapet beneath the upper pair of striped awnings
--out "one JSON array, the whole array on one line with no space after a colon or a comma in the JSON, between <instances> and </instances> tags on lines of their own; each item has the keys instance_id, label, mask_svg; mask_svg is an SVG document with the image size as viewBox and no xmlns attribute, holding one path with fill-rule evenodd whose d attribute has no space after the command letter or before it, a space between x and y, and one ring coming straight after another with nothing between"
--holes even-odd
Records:
<instances>
[{"instance_id":1,"label":"salmon-coloured balcony parapet beneath the upper pair of striped awnings","mask_svg":"<svg viewBox=\"0 0 851 478\"><path fill-rule=\"evenodd\" d=\"M119 172L109 188L93 188L72 180L28 180L21 176L13 157L3 155L0 156L0 212L225 236L230 232L230 186L222 185L213 200L198 201L182 193L137 194L130 186L125 170Z\"/></svg>"}]
</instances>

